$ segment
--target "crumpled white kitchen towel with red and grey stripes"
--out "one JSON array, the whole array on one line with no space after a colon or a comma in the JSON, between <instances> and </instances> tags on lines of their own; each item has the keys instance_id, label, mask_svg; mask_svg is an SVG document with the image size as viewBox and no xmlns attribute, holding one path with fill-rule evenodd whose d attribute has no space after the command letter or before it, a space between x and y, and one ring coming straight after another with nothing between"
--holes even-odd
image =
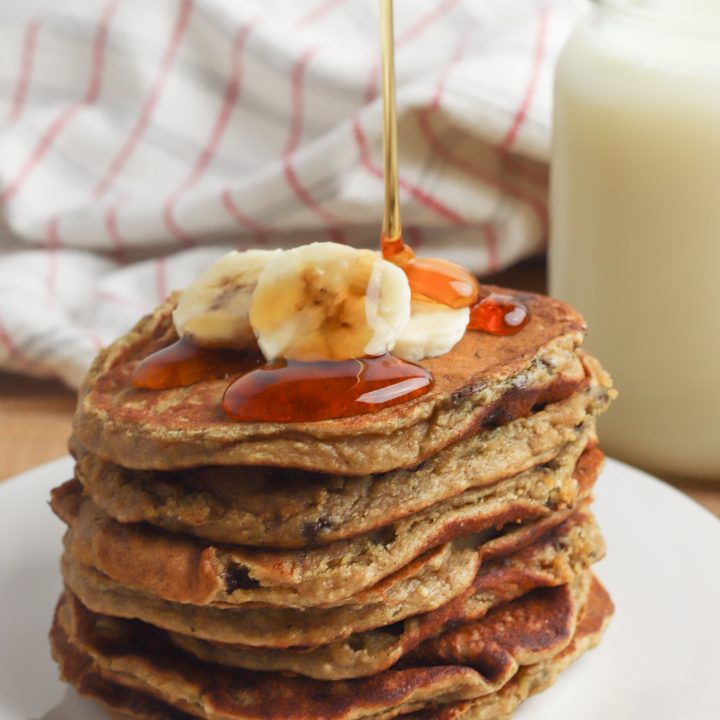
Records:
<instances>
[{"instance_id":1,"label":"crumpled white kitchen towel with red and grey stripes","mask_svg":"<svg viewBox=\"0 0 720 720\"><path fill-rule=\"evenodd\" d=\"M541 251L581 0L396 0L408 241ZM0 27L0 367L77 385L230 247L376 247L377 0L68 0Z\"/></svg>"}]
</instances>

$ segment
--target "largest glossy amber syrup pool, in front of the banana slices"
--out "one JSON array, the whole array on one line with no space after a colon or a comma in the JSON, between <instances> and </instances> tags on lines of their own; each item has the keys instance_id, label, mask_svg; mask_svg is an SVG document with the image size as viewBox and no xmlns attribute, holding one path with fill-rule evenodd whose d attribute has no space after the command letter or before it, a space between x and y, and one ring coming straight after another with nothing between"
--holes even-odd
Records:
<instances>
[{"instance_id":1,"label":"largest glossy amber syrup pool, in front of the banana slices","mask_svg":"<svg viewBox=\"0 0 720 720\"><path fill-rule=\"evenodd\" d=\"M237 378L223 409L242 422L315 422L364 415L424 395L423 367L390 354L357 360L279 360Z\"/></svg>"}]
</instances>

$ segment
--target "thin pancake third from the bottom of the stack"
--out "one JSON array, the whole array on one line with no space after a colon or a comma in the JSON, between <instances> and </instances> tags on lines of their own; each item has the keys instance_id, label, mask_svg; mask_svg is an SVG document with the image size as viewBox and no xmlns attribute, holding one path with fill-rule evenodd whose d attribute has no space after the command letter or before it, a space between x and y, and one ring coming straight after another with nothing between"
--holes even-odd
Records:
<instances>
[{"instance_id":1,"label":"thin pancake third from the bottom of the stack","mask_svg":"<svg viewBox=\"0 0 720 720\"><path fill-rule=\"evenodd\" d=\"M289 671L317 680L366 677L387 670L427 638L477 620L501 603L538 587L573 581L603 554L604 543L594 518L587 510L579 510L529 546L483 564L472 586L452 602L389 627L295 651L209 643L178 633L170 633L170 637L204 662L248 670Z\"/></svg>"}]
</instances>

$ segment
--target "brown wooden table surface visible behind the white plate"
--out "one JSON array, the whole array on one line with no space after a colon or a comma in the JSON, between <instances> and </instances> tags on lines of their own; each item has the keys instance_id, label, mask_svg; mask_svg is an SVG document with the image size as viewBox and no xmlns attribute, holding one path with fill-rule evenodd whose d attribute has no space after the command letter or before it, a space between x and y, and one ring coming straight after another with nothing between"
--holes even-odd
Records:
<instances>
[{"instance_id":1,"label":"brown wooden table surface visible behind the white plate","mask_svg":"<svg viewBox=\"0 0 720 720\"><path fill-rule=\"evenodd\" d=\"M544 266L521 263L488 280L544 291ZM0 480L67 452L75 393L59 382L0 373ZM720 517L720 484L673 484Z\"/></svg>"}]
</instances>

